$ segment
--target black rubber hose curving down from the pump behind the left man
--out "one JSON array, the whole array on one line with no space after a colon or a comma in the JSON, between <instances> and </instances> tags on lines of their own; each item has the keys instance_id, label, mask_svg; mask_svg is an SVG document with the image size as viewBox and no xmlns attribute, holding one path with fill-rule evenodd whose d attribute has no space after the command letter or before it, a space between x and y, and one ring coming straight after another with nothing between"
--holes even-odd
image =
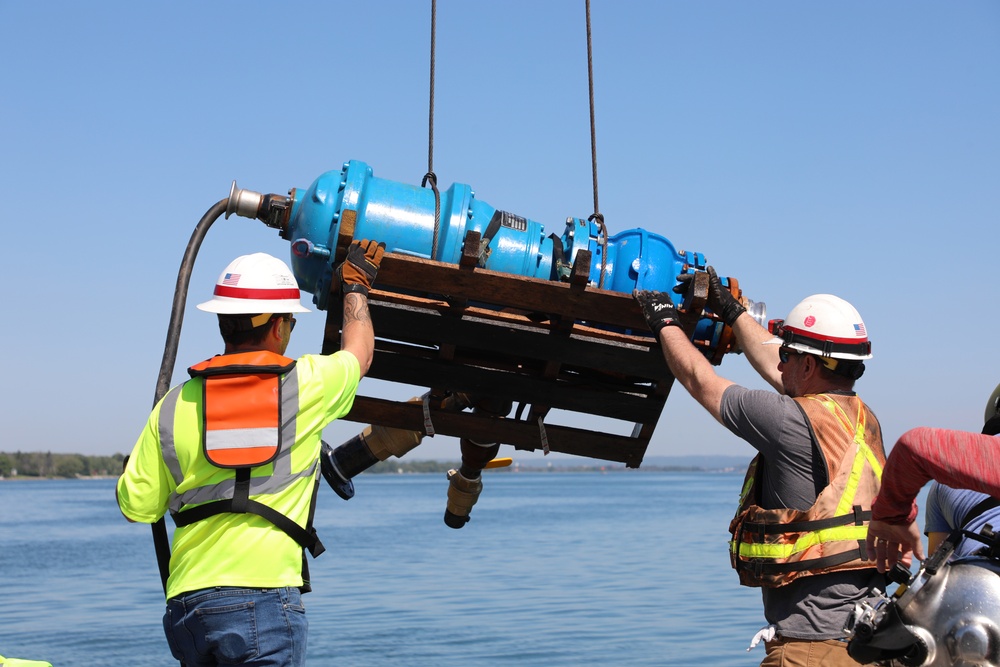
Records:
<instances>
[{"instance_id":1,"label":"black rubber hose curving down from the pump behind the left man","mask_svg":"<svg viewBox=\"0 0 1000 667\"><path fill-rule=\"evenodd\" d=\"M177 361L177 341L181 336L181 325L184 323L184 304L187 301L188 285L191 282L191 269L198 255L201 242L205 240L208 228L226 212L229 198L219 201L208 209L198 221L191 240L188 241L181 260L181 268L177 272L177 286L174 288L174 303L170 310L170 324L167 326L167 341L163 345L163 359L160 361L160 375L156 380L156 395L153 397L153 407L160 402L170 390L170 379L174 374L174 363ZM161 518L152 524L153 547L156 549L156 564L160 569L160 582L163 584L163 594L167 593L167 577L170 576L170 540L167 538L167 525Z\"/></svg>"}]
</instances>

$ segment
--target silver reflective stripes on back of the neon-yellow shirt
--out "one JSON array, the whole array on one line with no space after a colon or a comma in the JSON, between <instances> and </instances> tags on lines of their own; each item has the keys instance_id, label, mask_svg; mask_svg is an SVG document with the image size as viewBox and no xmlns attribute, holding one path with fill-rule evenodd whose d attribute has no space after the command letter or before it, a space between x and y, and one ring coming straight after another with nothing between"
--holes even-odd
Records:
<instances>
[{"instance_id":1,"label":"silver reflective stripes on back of the neon-yellow shirt","mask_svg":"<svg viewBox=\"0 0 1000 667\"><path fill-rule=\"evenodd\" d=\"M172 392L173 393L173 392ZM179 394L179 392L177 392ZM160 449L163 452L163 460L167 462L174 481L180 484L184 476L181 473L180 465L177 462L177 450L173 437L173 416L176 410L177 398L173 399L173 406L170 409L170 427L163 428L164 409L160 411ZM319 472L319 461L313 461L306 470L292 473L292 445L295 444L295 424L299 412L299 374L298 368L293 368L281 380L281 451L278 452L274 460L274 471L267 476L250 478L250 495L278 493L291 486L295 481L302 478L315 477ZM173 460L171 467L170 460ZM227 479L209 486L200 486L189 489L182 494L172 493L170 495L169 507L171 512L179 512L185 505L200 505L212 500L224 500L233 497L233 487L236 485L235 478Z\"/></svg>"}]
</instances>

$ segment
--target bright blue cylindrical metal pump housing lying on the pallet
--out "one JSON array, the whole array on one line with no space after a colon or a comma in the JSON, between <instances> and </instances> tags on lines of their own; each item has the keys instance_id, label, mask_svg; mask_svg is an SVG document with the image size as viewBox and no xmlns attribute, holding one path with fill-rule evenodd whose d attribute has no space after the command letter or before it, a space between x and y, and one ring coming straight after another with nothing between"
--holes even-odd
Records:
<instances>
[{"instance_id":1,"label":"bright blue cylindrical metal pump housing lying on the pallet","mask_svg":"<svg viewBox=\"0 0 1000 667\"><path fill-rule=\"evenodd\" d=\"M327 307L334 254L345 224L353 224L352 238L382 241L387 252L452 264L461 259L466 234L477 231L489 239L488 252L480 257L482 268L545 280L559 280L577 253L589 250L591 284L629 294L635 289L670 291L678 275L705 267L700 253L678 252L668 239L644 229L608 236L602 244L596 222L568 218L561 235L546 236L542 224L493 208L462 183L440 193L435 244L433 190L378 178L357 160L322 174L305 191L293 191L292 199L283 233L291 242L292 270L299 287L313 294L321 310ZM712 329L721 331L721 326L705 319L696 338L715 341L719 334Z\"/></svg>"}]
</instances>

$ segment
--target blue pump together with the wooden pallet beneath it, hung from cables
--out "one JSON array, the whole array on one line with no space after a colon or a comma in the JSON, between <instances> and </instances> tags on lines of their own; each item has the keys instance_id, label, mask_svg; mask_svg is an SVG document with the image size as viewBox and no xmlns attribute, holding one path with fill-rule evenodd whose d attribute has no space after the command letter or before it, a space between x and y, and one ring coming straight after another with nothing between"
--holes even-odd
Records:
<instances>
[{"instance_id":1,"label":"blue pump together with the wooden pallet beneath it, hung from cables","mask_svg":"<svg viewBox=\"0 0 1000 667\"><path fill-rule=\"evenodd\" d=\"M692 340L715 364L739 351L731 330L704 309L700 253L643 229L608 236L580 218L546 236L540 223L497 210L460 183L440 193L439 205L437 196L377 178L359 161L288 197L233 184L226 216L257 218L290 242L299 286L327 311L324 352L340 345L334 267L352 239L386 244L369 298L378 337L369 376L427 394L422 404L359 395L348 419L638 467L673 377L632 290L669 291L678 275L694 272L684 300L701 314ZM724 283L741 298L735 279ZM763 304L744 302L763 321ZM448 400L456 395L463 400ZM633 427L615 435L547 424L553 408Z\"/></svg>"}]
</instances>

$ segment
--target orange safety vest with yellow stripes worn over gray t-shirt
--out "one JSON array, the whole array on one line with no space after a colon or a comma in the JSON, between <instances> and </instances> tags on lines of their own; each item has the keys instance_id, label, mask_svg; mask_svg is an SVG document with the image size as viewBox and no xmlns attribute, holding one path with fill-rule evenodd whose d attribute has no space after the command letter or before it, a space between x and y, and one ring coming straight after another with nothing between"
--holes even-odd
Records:
<instances>
[{"instance_id":1,"label":"orange safety vest with yellow stripes worn over gray t-shirt","mask_svg":"<svg viewBox=\"0 0 1000 667\"><path fill-rule=\"evenodd\" d=\"M730 561L744 586L784 586L799 577L875 567L866 560L865 537L885 466L878 421L857 396L794 400L819 446L828 484L808 510L764 509L760 455L754 458L729 525Z\"/></svg>"}]
</instances>

